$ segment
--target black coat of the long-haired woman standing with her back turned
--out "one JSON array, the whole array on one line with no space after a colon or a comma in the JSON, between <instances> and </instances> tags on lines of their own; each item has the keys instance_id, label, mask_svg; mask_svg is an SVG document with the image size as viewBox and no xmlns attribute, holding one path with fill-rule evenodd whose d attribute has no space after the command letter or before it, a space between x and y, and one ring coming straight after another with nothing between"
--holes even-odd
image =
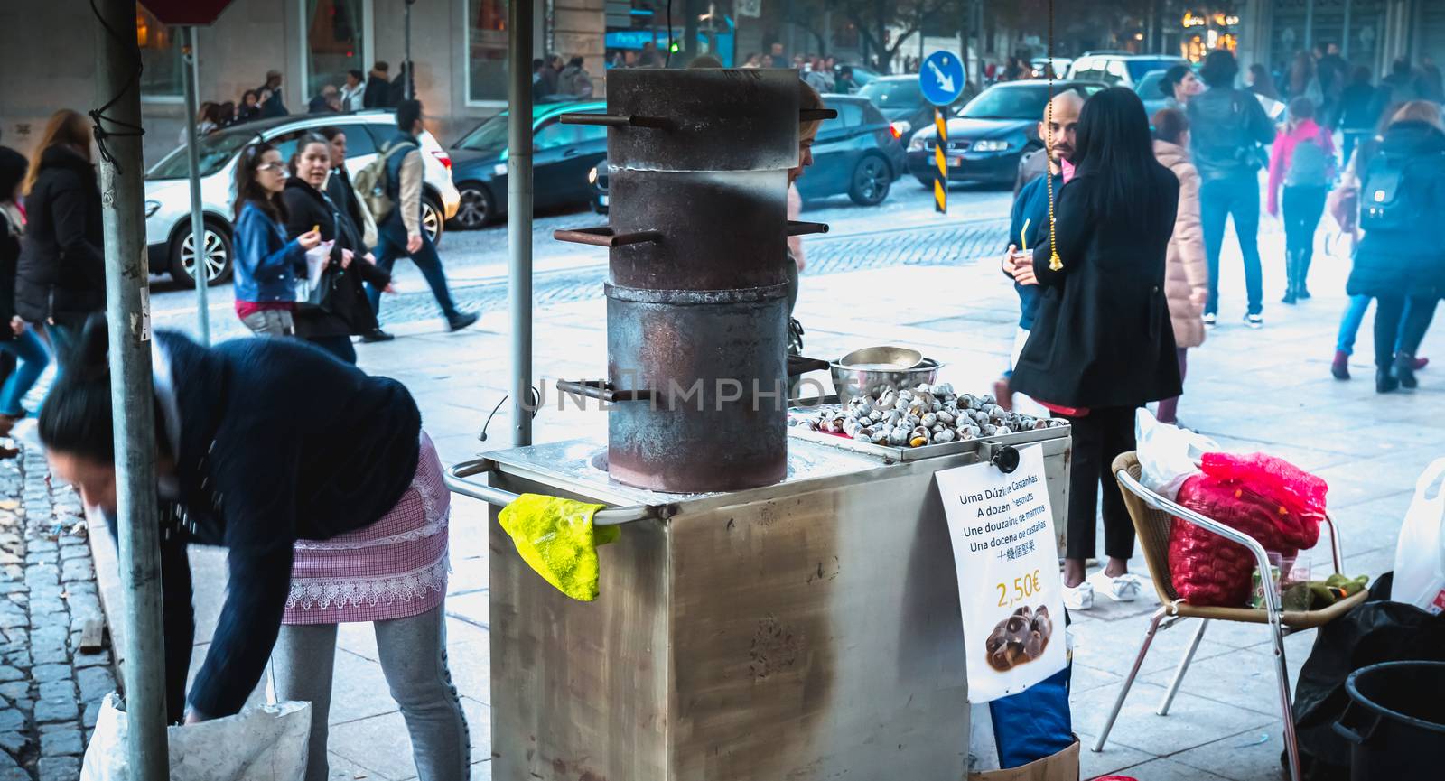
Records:
<instances>
[{"instance_id":1,"label":"black coat of the long-haired woman standing with her back turned","mask_svg":"<svg viewBox=\"0 0 1445 781\"><path fill-rule=\"evenodd\" d=\"M1254 100L1254 98L1250 98ZM1075 175L1055 214L1064 267L1049 270L1049 243L1033 251L1039 312L1010 385L1064 407L1139 407L1181 393L1165 266L1179 179L1159 166L1129 208L1097 218Z\"/></svg>"}]
</instances>

